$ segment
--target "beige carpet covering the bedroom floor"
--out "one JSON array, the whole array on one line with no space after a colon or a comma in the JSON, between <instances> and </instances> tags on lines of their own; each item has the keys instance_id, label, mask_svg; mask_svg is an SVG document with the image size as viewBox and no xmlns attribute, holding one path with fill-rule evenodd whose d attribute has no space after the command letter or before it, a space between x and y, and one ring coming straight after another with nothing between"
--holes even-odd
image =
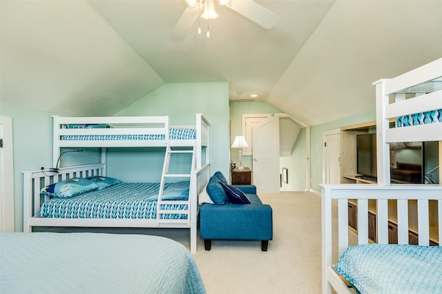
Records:
<instances>
[{"instance_id":1,"label":"beige carpet covering the bedroom floor","mask_svg":"<svg viewBox=\"0 0 442 294\"><path fill-rule=\"evenodd\" d=\"M307 192L260 195L273 209L273 240L261 251L259 241L213 240L211 251L198 240L193 255L209 294L321 293L320 197ZM227 224L228 225L228 224ZM190 247L188 229L64 228L162 235Z\"/></svg>"}]
</instances>

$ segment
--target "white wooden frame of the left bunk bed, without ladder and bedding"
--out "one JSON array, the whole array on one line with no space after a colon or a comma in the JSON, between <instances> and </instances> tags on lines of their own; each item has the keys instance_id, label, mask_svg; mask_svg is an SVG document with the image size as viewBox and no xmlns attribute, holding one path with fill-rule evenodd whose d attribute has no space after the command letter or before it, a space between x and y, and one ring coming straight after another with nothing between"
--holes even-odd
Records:
<instances>
[{"instance_id":1,"label":"white wooden frame of the left bunk bed, without ladder and bedding","mask_svg":"<svg viewBox=\"0 0 442 294\"><path fill-rule=\"evenodd\" d=\"M196 129L195 140L169 140L169 116L111 116L111 117L60 117L54 116L53 164L61 154L61 148L101 147L102 163L54 169L23 171L23 231L32 232L32 227L144 227L144 228L189 228L191 233L191 253L197 250L198 194L209 182L209 123L196 114L196 124L179 126ZM108 124L112 128L67 129L66 124ZM65 135L128 135L162 134L164 140L61 140ZM156 219L68 219L40 218L39 210L47 196L40 196L40 189L53 182L66 178L86 176L106 176L106 147L193 147L195 160L192 160L189 189L189 211L187 220ZM205 161L203 160L203 149ZM165 156L166 160L166 156ZM203 162L204 161L204 162ZM163 171L165 173L165 171ZM184 175L178 175L184 176Z\"/></svg>"}]
</instances>

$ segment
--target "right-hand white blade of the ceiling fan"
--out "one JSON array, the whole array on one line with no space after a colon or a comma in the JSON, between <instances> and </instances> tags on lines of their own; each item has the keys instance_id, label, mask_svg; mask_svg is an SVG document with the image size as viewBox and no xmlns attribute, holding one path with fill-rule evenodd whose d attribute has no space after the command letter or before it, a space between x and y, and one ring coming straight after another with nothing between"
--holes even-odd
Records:
<instances>
[{"instance_id":1,"label":"right-hand white blade of the ceiling fan","mask_svg":"<svg viewBox=\"0 0 442 294\"><path fill-rule=\"evenodd\" d=\"M244 17L247 17L247 19L254 21L267 30L273 28L279 21L278 14L253 0L233 0L227 7L242 14Z\"/></svg>"}]
</instances>

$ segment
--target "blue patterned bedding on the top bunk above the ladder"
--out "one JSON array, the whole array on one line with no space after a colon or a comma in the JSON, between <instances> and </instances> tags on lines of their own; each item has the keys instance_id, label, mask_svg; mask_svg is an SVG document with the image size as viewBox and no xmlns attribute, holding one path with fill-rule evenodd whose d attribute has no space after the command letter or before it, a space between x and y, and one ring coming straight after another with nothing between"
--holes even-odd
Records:
<instances>
[{"instance_id":1,"label":"blue patterned bedding on the top bunk above the ladder","mask_svg":"<svg viewBox=\"0 0 442 294\"><path fill-rule=\"evenodd\" d=\"M69 129L83 129L90 127L68 127ZM93 127L97 128L97 127ZM171 140L195 140L196 130L188 128L171 128L169 130L169 137ZM133 134L133 135L64 135L61 140L164 140L164 135L148 135L148 134Z\"/></svg>"}]
</instances>

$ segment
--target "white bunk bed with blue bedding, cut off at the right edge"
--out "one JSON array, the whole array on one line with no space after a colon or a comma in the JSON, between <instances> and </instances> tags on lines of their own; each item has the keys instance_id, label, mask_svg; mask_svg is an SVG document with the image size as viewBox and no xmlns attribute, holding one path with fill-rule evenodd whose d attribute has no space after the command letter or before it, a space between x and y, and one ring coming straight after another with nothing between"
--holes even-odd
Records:
<instances>
[{"instance_id":1,"label":"white bunk bed with blue bedding, cut off at the right edge","mask_svg":"<svg viewBox=\"0 0 442 294\"><path fill-rule=\"evenodd\" d=\"M441 77L442 59L438 59L396 78L374 83L378 183L321 185L323 293L332 293L332 288L337 293L441 292L442 186L390 184L390 143L439 141L439 165L442 161ZM413 120L410 126L400 127L401 118L409 116ZM390 128L392 120L396 120L394 128ZM356 199L358 203L357 246L349 246L349 199ZM378 244L370 244L368 238L368 210L372 205L369 203L373 202ZM337 232L332 231L336 204ZM397 217L398 244L388 244L389 213ZM411 219L417 222L419 246L409 245ZM428 246L430 231L435 231L439 246ZM334 244L338 246L337 256L336 253L332 256L333 247L336 249ZM401 258L396 255L398 251ZM376 257L376 254L380 255ZM421 255L416 258L414 254ZM334 264L338 257L340 259ZM369 277L369 272L377 275ZM365 284L369 279L372 283Z\"/></svg>"}]
</instances>

